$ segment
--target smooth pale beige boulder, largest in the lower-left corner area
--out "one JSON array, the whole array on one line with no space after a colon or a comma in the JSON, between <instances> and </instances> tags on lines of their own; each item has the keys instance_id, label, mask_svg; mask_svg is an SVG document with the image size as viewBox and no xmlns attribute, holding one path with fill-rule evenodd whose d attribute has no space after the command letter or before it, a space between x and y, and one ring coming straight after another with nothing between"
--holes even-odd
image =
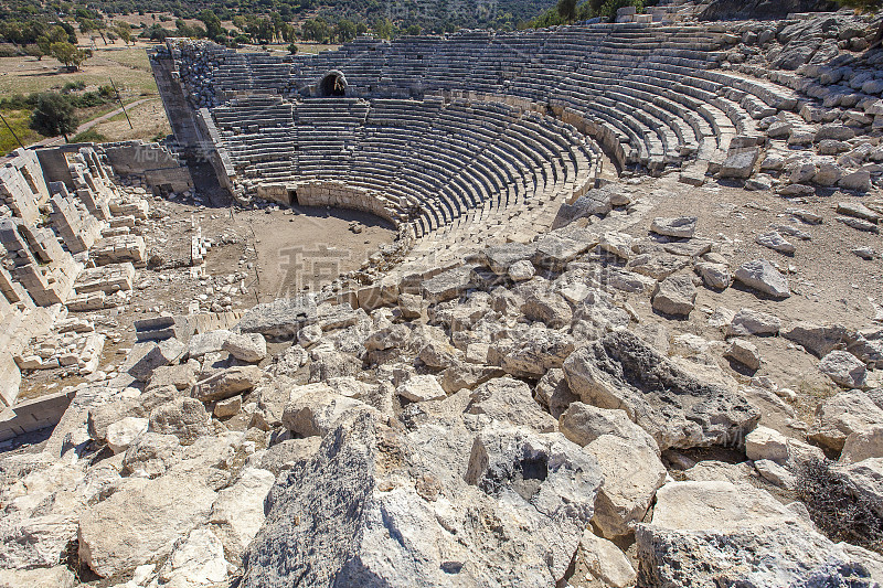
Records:
<instances>
[{"instance_id":1,"label":"smooth pale beige boulder, largest in the lower-left corner area","mask_svg":"<svg viewBox=\"0 0 883 588\"><path fill-rule=\"evenodd\" d=\"M215 493L192 477L131 479L79 517L79 558L103 578L169 555L204 523Z\"/></svg>"}]
</instances>

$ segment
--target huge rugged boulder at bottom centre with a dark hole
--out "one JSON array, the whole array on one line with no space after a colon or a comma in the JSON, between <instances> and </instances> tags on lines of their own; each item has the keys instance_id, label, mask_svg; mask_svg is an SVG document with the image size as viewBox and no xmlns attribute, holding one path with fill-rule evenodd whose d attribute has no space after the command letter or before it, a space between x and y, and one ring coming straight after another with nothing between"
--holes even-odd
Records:
<instances>
[{"instance_id":1,"label":"huge rugged boulder at bottom centre with a dark hole","mask_svg":"<svg viewBox=\"0 0 883 588\"><path fill-rule=\"evenodd\" d=\"M444 408L464 399L415 405L437 404L442 421L408 437L370 415L329 432L276 481L241 586L562 579L593 514L597 466L558 434L492 425L469 443L442 416L456 420Z\"/></svg>"}]
</instances>

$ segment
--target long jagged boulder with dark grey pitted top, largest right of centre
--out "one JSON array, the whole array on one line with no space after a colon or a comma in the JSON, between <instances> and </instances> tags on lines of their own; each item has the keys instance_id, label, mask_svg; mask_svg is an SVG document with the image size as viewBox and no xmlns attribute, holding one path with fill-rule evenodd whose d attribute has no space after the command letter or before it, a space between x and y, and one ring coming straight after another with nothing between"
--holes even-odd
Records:
<instances>
[{"instance_id":1,"label":"long jagged boulder with dark grey pitted top, largest right of centre","mask_svg":"<svg viewBox=\"0 0 883 588\"><path fill-rule=\"evenodd\" d=\"M696 378L625 330L572 353L564 373L584 403L624 409L662 450L733 445L760 418L734 391Z\"/></svg>"}]
</instances>

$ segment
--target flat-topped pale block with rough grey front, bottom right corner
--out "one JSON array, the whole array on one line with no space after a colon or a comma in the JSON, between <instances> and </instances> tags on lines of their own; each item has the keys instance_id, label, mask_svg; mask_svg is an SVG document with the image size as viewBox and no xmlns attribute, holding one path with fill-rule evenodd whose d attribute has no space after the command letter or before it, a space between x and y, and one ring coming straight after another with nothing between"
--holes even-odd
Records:
<instances>
[{"instance_id":1,"label":"flat-topped pale block with rough grey front, bottom right corner","mask_svg":"<svg viewBox=\"0 0 883 588\"><path fill-rule=\"evenodd\" d=\"M674 482L636 531L638 586L875 586L870 567L769 493Z\"/></svg>"}]
</instances>

